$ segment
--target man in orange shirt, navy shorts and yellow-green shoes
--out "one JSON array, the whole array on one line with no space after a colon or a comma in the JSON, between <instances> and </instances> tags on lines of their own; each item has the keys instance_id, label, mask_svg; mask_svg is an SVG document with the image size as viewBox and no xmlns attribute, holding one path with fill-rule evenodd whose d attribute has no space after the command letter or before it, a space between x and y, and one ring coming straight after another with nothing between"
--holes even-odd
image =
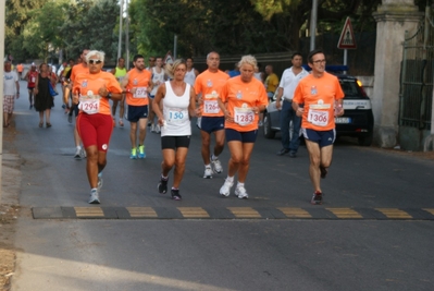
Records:
<instances>
[{"instance_id":1,"label":"man in orange shirt, navy shorts and yellow-green shoes","mask_svg":"<svg viewBox=\"0 0 434 291\"><path fill-rule=\"evenodd\" d=\"M132 142L131 159L144 159L146 125L149 114L149 94L152 90L152 76L145 70L145 58L141 54L134 56L134 68L122 80L121 86L126 93L128 105L127 117L131 124L129 138ZM138 123L138 146L137 146L137 123Z\"/></svg>"}]
</instances>

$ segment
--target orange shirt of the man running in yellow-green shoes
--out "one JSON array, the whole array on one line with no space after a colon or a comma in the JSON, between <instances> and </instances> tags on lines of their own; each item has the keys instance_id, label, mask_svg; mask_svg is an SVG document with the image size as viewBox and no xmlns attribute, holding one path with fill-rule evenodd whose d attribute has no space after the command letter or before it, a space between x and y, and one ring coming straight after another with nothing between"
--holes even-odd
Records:
<instances>
[{"instance_id":1,"label":"orange shirt of the man running in yellow-green shoes","mask_svg":"<svg viewBox=\"0 0 434 291\"><path fill-rule=\"evenodd\" d=\"M139 71L133 68L128 72L127 89L136 88L136 93L126 93L126 104L132 106L145 106L149 104L148 87L150 86L151 73L148 70Z\"/></svg>"}]
</instances>

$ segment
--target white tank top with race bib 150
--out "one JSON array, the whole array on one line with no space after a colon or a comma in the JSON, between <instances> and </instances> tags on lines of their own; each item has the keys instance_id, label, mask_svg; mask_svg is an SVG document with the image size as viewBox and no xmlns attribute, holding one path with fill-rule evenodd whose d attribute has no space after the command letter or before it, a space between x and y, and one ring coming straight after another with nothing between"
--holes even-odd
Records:
<instances>
[{"instance_id":1,"label":"white tank top with race bib 150","mask_svg":"<svg viewBox=\"0 0 434 291\"><path fill-rule=\"evenodd\" d=\"M191 135L191 123L188 114L190 105L190 84L186 83L183 96L173 93L171 82L165 84L163 98L164 125L161 126L161 136Z\"/></svg>"}]
</instances>

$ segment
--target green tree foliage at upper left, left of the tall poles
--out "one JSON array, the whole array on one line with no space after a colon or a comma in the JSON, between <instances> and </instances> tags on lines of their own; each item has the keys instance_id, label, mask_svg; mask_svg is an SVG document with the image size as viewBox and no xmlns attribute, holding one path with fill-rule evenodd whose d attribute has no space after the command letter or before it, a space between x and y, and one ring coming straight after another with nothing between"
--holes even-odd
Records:
<instances>
[{"instance_id":1,"label":"green tree foliage at upper left, left of the tall poles","mask_svg":"<svg viewBox=\"0 0 434 291\"><path fill-rule=\"evenodd\" d=\"M59 49L75 58L91 48L115 58L117 16L117 0L9 0L5 52L25 61Z\"/></svg>"}]
</instances>

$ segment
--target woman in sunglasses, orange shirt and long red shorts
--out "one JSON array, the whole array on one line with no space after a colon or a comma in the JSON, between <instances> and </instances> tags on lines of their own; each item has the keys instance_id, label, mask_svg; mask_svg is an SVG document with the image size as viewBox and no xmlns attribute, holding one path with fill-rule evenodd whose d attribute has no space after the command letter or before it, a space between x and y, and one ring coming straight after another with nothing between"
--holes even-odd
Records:
<instances>
[{"instance_id":1,"label":"woman in sunglasses, orange shirt and long red shorts","mask_svg":"<svg viewBox=\"0 0 434 291\"><path fill-rule=\"evenodd\" d=\"M86 149L86 171L90 184L89 204L99 204L102 170L107 165L107 150L113 131L109 99L120 100L122 89L117 80L101 71L104 53L91 50L86 56L89 72L74 78L74 104L79 101L76 128ZM78 93L78 94L77 94Z\"/></svg>"}]
</instances>

